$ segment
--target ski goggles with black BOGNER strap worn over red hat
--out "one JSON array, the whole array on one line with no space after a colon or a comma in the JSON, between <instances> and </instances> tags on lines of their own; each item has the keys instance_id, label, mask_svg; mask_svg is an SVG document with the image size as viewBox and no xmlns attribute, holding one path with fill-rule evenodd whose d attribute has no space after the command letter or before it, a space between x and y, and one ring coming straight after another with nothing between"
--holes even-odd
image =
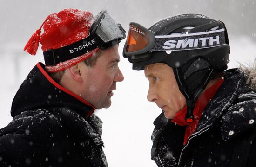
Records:
<instances>
[{"instance_id":1,"label":"ski goggles with black BOGNER strap worn over red hat","mask_svg":"<svg viewBox=\"0 0 256 167\"><path fill-rule=\"evenodd\" d=\"M125 30L102 10L94 17L89 36L71 45L43 52L46 65L56 65L88 53L96 48L107 49L125 39Z\"/></svg>"}]
</instances>

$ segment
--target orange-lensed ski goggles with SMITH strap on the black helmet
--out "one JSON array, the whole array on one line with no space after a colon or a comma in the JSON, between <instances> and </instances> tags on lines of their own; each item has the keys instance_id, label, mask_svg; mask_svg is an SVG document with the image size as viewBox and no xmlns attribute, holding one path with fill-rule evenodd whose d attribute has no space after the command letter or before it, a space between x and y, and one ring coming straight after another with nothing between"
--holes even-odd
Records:
<instances>
[{"instance_id":1,"label":"orange-lensed ski goggles with SMITH strap on the black helmet","mask_svg":"<svg viewBox=\"0 0 256 167\"><path fill-rule=\"evenodd\" d=\"M184 51L225 45L225 29L196 33L155 36L138 23L131 22L123 56L133 62L150 58L154 51Z\"/></svg>"}]
</instances>

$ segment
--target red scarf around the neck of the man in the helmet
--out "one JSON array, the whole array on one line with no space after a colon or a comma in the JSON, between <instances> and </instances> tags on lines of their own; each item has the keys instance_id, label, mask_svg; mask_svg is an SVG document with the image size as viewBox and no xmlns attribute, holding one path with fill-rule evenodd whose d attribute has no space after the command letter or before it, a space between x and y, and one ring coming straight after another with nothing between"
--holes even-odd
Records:
<instances>
[{"instance_id":1,"label":"red scarf around the neck of the man in the helmet","mask_svg":"<svg viewBox=\"0 0 256 167\"><path fill-rule=\"evenodd\" d=\"M209 87L209 89L205 90L197 99L195 103L195 108L193 111L194 114L194 122L187 123L185 121L185 116L187 113L187 106L184 107L182 110L176 113L172 122L180 125L180 126L187 126L185 136L184 136L184 143L183 145L187 144L188 138L191 134L193 134L196 130L197 124L202 116L202 111L209 103L211 98L215 95L221 84L223 83L223 79L219 79L214 85Z\"/></svg>"}]
</instances>

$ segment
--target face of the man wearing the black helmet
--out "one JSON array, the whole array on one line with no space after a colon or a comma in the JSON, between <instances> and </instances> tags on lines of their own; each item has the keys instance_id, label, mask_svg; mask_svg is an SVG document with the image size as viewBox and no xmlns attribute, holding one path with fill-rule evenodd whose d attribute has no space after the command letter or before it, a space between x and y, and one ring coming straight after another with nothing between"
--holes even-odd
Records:
<instances>
[{"instance_id":1,"label":"face of the man wearing the black helmet","mask_svg":"<svg viewBox=\"0 0 256 167\"><path fill-rule=\"evenodd\" d=\"M179 90L172 68L155 63L147 65L144 72L149 80L148 101L155 102L166 118L173 119L185 107L186 99Z\"/></svg>"}]
</instances>

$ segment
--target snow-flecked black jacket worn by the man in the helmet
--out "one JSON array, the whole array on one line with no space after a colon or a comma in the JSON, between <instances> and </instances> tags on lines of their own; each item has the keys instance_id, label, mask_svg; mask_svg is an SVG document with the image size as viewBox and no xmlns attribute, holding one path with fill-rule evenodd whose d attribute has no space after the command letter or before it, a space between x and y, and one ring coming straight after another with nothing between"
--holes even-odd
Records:
<instances>
[{"instance_id":1,"label":"snow-flecked black jacket worn by the man in the helmet","mask_svg":"<svg viewBox=\"0 0 256 167\"><path fill-rule=\"evenodd\" d=\"M159 167L236 167L234 159L239 158L247 164L244 167L256 167L256 137L250 138L256 134L256 91L246 84L242 70L225 72L227 78L185 146L186 127L175 125L163 113L155 119L151 157ZM242 142L249 154L239 157L236 151Z\"/></svg>"}]
</instances>

